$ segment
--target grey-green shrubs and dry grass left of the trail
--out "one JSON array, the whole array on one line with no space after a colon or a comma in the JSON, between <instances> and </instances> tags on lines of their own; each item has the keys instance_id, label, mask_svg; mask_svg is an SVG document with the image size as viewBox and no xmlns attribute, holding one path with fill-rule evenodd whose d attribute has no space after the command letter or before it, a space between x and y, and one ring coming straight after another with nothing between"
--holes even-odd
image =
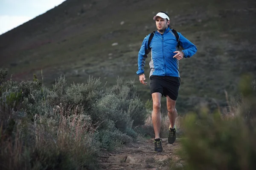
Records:
<instances>
[{"instance_id":1,"label":"grey-green shrubs and dry grass left of the trail","mask_svg":"<svg viewBox=\"0 0 256 170\"><path fill-rule=\"evenodd\" d=\"M100 150L136 139L134 128L148 112L134 81L100 79L67 86L60 76L51 89L33 81L5 81L0 69L0 169L96 169Z\"/></svg>"}]
</instances>

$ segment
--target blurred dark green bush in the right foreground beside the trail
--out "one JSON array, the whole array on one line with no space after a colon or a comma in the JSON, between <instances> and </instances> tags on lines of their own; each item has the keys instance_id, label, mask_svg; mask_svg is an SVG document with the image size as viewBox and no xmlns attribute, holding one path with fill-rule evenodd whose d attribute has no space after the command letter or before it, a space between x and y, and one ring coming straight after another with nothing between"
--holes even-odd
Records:
<instances>
[{"instance_id":1,"label":"blurred dark green bush in the right foreground beside the trail","mask_svg":"<svg viewBox=\"0 0 256 170\"><path fill-rule=\"evenodd\" d=\"M256 169L256 92L243 80L239 103L228 112L209 114L202 109L184 118L186 138L180 156L188 170Z\"/></svg>"}]
</instances>

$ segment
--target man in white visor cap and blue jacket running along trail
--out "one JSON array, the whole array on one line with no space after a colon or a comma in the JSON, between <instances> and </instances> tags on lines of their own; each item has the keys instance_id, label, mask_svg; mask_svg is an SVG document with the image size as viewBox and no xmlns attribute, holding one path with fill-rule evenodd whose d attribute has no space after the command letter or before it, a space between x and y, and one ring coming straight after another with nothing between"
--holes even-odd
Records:
<instances>
[{"instance_id":1,"label":"man in white visor cap and blue jacket running along trail","mask_svg":"<svg viewBox=\"0 0 256 170\"><path fill-rule=\"evenodd\" d=\"M138 71L140 82L144 85L146 78L144 75L145 59L151 51L150 66L150 93L153 100L152 122L154 126L154 151L162 152L163 147L160 139L161 127L161 113L160 101L161 97L165 96L167 99L167 109L170 121L168 142L174 143L176 139L175 120L177 117L177 110L175 109L176 100L178 97L178 90L180 87L179 74L179 60L183 58L190 58L197 52L196 46L188 39L183 37L179 32L176 36L170 28L169 15L165 12L158 12L153 17L156 22L157 31L154 32L150 42L149 37L146 36L143 40L142 46L138 55ZM178 41L176 37L178 36ZM179 46L183 48L178 51Z\"/></svg>"}]
</instances>

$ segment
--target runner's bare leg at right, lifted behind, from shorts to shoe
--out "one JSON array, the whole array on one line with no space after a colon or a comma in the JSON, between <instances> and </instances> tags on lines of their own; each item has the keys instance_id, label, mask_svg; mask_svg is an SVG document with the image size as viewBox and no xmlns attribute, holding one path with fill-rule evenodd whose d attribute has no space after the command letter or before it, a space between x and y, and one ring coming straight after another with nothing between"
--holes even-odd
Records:
<instances>
[{"instance_id":1,"label":"runner's bare leg at right, lifted behind, from shorts to shoe","mask_svg":"<svg viewBox=\"0 0 256 170\"><path fill-rule=\"evenodd\" d=\"M175 121L178 115L177 110L175 109L176 101L169 98L168 95L166 96L166 101L167 101L168 117L169 117L171 128L173 129L175 127Z\"/></svg>"}]
</instances>

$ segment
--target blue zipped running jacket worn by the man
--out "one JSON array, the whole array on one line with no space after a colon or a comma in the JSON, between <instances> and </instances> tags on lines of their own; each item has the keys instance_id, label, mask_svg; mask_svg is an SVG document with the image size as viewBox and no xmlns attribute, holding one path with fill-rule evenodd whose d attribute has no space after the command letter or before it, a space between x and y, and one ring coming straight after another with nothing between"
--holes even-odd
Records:
<instances>
[{"instance_id":1,"label":"blue zipped running jacket worn by the man","mask_svg":"<svg viewBox=\"0 0 256 170\"><path fill-rule=\"evenodd\" d=\"M179 35L180 46L183 48L182 52L184 58L189 58L197 52L196 46L186 39L180 32L177 32ZM144 73L145 60L148 58L148 53L150 52L148 48L148 39L147 35L140 47L139 56L138 56L138 71L137 75ZM150 74L159 75L159 76L173 76L180 77L179 73L179 61L173 56L178 51L177 40L170 28L167 28L163 35L159 32L155 32L151 43L151 61L149 62Z\"/></svg>"}]
</instances>

